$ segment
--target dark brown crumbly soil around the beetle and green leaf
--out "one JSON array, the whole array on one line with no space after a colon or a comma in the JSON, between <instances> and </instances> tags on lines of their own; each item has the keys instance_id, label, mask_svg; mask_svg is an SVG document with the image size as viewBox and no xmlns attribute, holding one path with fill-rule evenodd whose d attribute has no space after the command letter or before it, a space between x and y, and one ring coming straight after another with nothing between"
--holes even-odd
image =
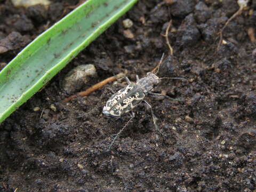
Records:
<instances>
[{"instance_id":1,"label":"dark brown crumbly soil around the beetle and green leaf","mask_svg":"<svg viewBox=\"0 0 256 192\"><path fill-rule=\"evenodd\" d=\"M0 1L0 39L12 45L0 54L1 68L70 11L65 7L78 3L52 2L46 10L17 9ZM237 1L162 2L137 3L0 125L0 191L256 190L256 51L247 35L256 27L256 2L228 24L226 44L219 50L218 32L239 9ZM133 21L129 33L134 38L124 32L127 18ZM141 104L107 152L130 117L111 119L101 113L112 94L106 87L61 103L69 96L60 89L62 79L85 63L95 65L99 76L83 90L125 70L131 81L136 74L145 76L163 53L169 54L163 35L171 19L174 54L159 76L188 81L165 79L154 91L183 101L147 98L167 137L155 130L150 110Z\"/></svg>"}]
</instances>

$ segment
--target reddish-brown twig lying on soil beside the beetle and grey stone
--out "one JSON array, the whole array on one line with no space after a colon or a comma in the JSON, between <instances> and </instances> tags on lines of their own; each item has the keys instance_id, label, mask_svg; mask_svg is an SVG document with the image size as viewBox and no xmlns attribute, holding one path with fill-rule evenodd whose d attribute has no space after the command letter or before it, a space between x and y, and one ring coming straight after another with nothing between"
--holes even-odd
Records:
<instances>
[{"instance_id":1,"label":"reddish-brown twig lying on soil beside the beetle and grey stone","mask_svg":"<svg viewBox=\"0 0 256 192\"><path fill-rule=\"evenodd\" d=\"M68 101L70 101L71 99L74 99L74 98L79 97L79 96L80 96L80 97L85 97L85 96L89 95L90 93L92 93L92 92L94 92L94 91L100 89L101 87L103 87L104 85L108 84L109 82L114 82L114 81L116 81L117 79L122 78L122 77L124 77L124 76L125 76L125 74L119 73L119 74L117 74L117 75L115 75L115 76L106 78L106 79L103 80L102 82L99 82L99 83L97 83L97 84L95 84L95 85L89 87L89 88L88 88L87 90L85 90L85 91L79 92L79 93L77 93L77 94L75 94L75 95L71 95L70 97L68 97L68 98L66 98L66 99L64 99L64 100L62 100L62 102L68 102Z\"/></svg>"}]
</instances>

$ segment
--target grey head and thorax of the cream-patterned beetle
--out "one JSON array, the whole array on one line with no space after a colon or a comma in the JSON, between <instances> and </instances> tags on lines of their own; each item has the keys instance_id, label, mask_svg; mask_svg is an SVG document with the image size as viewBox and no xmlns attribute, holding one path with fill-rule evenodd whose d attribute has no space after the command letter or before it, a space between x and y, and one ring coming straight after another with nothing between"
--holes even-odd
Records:
<instances>
[{"instance_id":1,"label":"grey head and thorax of the cream-patterned beetle","mask_svg":"<svg viewBox=\"0 0 256 192\"><path fill-rule=\"evenodd\" d=\"M143 77L136 82L136 84L139 85L145 93L151 91L153 87L159 83L160 83L159 77L157 77L155 74L150 72L147 73L146 77Z\"/></svg>"}]
</instances>

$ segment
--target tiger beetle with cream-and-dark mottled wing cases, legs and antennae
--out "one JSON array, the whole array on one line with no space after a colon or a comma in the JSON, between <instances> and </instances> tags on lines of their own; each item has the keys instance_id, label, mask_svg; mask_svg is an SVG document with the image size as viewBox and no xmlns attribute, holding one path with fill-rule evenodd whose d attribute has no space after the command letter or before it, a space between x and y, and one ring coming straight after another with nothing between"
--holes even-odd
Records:
<instances>
[{"instance_id":1,"label":"tiger beetle with cream-and-dark mottled wing cases, legs and antennae","mask_svg":"<svg viewBox=\"0 0 256 192\"><path fill-rule=\"evenodd\" d=\"M161 58L161 61L159 62L158 70L157 70L156 74L159 71L159 66L162 63L163 57L164 57L164 54ZM117 91L115 94L113 94L107 101L106 106L103 107L102 113L109 117L121 118L122 116L124 116L125 114L128 114L128 113L130 113L130 115L131 115L130 120L124 125L124 127L116 134L115 138L111 141L108 150L111 149L115 140L119 137L119 134L121 134L123 132L123 130L125 129L125 127L127 125L129 125L129 123L132 121L132 119L135 116L132 109L134 107L136 107L141 101L145 102L145 104L150 108L151 115L153 118L153 123L155 125L156 130L159 133L161 133L162 135L164 135L158 129L158 126L156 124L157 118L155 117L155 115L153 113L152 107L146 100L144 100L144 98L146 97L146 95L156 95L156 96L163 96L163 97L166 97L169 99L173 99L173 98L168 97L167 95L153 93L153 92L151 92L151 90L153 90L154 86L158 85L161 82L161 79L185 79L185 78L180 78L180 77L159 78L159 77L157 77L156 74L149 72L149 73L147 73L146 77L143 77L143 78L139 78L139 76L137 75L136 83L132 83L129 80L129 78L125 77L128 85L125 88L123 88L123 89ZM173 99L173 100L177 100L177 99Z\"/></svg>"}]
</instances>

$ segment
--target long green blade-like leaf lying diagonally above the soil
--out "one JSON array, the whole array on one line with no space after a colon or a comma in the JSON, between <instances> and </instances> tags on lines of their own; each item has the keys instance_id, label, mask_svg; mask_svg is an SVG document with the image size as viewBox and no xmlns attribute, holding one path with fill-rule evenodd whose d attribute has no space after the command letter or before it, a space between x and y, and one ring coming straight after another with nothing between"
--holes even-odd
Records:
<instances>
[{"instance_id":1,"label":"long green blade-like leaf lying diagonally above the soil","mask_svg":"<svg viewBox=\"0 0 256 192\"><path fill-rule=\"evenodd\" d=\"M0 123L138 0L88 0L39 35L0 72Z\"/></svg>"}]
</instances>

